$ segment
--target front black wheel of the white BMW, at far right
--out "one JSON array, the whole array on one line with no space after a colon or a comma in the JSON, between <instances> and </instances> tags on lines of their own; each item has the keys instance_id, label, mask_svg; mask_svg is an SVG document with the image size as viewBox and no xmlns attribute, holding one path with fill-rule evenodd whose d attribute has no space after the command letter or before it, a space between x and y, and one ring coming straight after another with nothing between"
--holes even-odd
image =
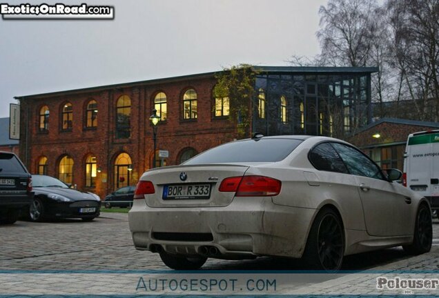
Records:
<instances>
[{"instance_id":1,"label":"front black wheel of the white BMW, at far right","mask_svg":"<svg viewBox=\"0 0 439 298\"><path fill-rule=\"evenodd\" d=\"M422 204L416 213L415 231L413 232L413 243L402 246L409 255L421 255L431 250L433 241L433 226L431 224L431 211L429 206Z\"/></svg>"}]
</instances>

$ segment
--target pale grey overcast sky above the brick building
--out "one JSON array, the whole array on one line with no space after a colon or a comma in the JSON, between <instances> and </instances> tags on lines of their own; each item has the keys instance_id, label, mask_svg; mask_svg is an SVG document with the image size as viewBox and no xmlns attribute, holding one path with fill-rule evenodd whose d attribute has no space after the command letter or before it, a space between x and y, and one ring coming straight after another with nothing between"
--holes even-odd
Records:
<instances>
[{"instance_id":1,"label":"pale grey overcast sky above the brick building","mask_svg":"<svg viewBox=\"0 0 439 298\"><path fill-rule=\"evenodd\" d=\"M0 19L0 117L14 97L159 79L320 52L326 0L4 1L108 5L110 21Z\"/></svg>"}]
</instances>

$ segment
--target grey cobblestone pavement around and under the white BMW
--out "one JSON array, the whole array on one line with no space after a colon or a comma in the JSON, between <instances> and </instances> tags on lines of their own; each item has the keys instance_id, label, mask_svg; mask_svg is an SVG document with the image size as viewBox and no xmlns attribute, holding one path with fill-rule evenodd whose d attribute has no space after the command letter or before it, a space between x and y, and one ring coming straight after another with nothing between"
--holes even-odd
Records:
<instances>
[{"instance_id":1,"label":"grey cobblestone pavement around and under the white BMW","mask_svg":"<svg viewBox=\"0 0 439 298\"><path fill-rule=\"evenodd\" d=\"M439 221L433 221L433 247L431 252L416 257L407 256L402 248L391 248L378 252L369 252L346 257L343 270L360 270L358 274L344 273L335 276L325 276L311 279L298 278L295 281L289 277L277 292L272 294L352 294L363 288L362 294L377 294L376 272L387 272L389 277L416 272L416 278L439 278ZM211 275L233 276L237 270L300 270L300 264L284 259L269 257L245 261L224 261L209 259L199 271L215 270ZM20 276L26 270L31 283ZM39 270L39 271L34 271ZM46 270L50 278L43 279L34 276L32 272ZM54 273L53 270L61 270ZM68 272L66 272L68 270ZM79 270L79 271L78 271ZM163 274L172 275L157 254L137 251L128 229L128 215L122 213L101 213L101 217L92 222L81 220L64 220L43 223L18 221L14 225L0 226L0 295L4 294L76 294L75 288L70 290L59 286L65 277L63 274L89 273L99 270L103 275L99 285L93 285L90 277L81 277L81 285L86 286L84 293L119 293L128 283L135 289L133 280L139 278L138 272L157 270ZM107 270L107 271L106 271ZM217 271L220 270L220 271ZM232 271L231 271L232 270ZM221 271L227 272L222 274ZM18 272L18 273L17 273ZM126 272L124 277L118 275ZM219 272L219 273L218 273ZM391 274L395 272L395 274ZM17 274L16 274L17 273ZM107 275L105 275L107 273ZM155 272L157 273L157 272ZM271 276L265 272L265 276ZM282 272L281 272L282 273ZM133 274L135 276L133 276ZM282 274L281 274L282 275ZM277 279L285 279L286 276ZM74 279L73 279L74 280ZM115 283L115 280L119 281ZM82 282L84 281L84 282ZM85 283L85 284L84 284ZM71 283L70 283L71 284ZM102 290L104 285L105 290ZM137 285L138 286L138 285ZM119 290L119 291L118 291ZM138 294L138 292L133 292ZM182 292L184 293L184 292ZM229 292L233 293L233 292ZM378 292L378 294L401 294L402 292ZM439 290L429 290L429 294L439 296ZM131 294L131 292L130 292Z\"/></svg>"}]
</instances>

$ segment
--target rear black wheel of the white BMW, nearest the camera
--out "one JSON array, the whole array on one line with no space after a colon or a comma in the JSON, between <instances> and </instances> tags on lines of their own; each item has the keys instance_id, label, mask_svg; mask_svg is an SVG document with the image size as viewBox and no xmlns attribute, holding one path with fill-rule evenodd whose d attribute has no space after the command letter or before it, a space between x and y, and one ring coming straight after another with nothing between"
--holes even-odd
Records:
<instances>
[{"instance_id":1,"label":"rear black wheel of the white BMW, nearest the camera","mask_svg":"<svg viewBox=\"0 0 439 298\"><path fill-rule=\"evenodd\" d=\"M302 260L313 270L340 270L344 255L344 230L335 211L326 208L315 217Z\"/></svg>"}]
</instances>

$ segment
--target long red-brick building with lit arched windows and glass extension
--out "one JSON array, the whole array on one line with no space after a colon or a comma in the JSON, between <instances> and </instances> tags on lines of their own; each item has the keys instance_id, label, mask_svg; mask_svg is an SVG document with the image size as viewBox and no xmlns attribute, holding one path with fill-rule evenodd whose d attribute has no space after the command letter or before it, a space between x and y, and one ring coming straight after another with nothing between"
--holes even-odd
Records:
<instances>
[{"instance_id":1,"label":"long red-brick building with lit arched windows and glass extension","mask_svg":"<svg viewBox=\"0 0 439 298\"><path fill-rule=\"evenodd\" d=\"M250 132L333 135L371 121L370 74L376 68L257 67ZM16 97L20 157L32 173L79 189L135 185L153 167L179 164L237 138L227 97L215 98L215 72ZM157 152L156 151L156 152Z\"/></svg>"}]
</instances>

